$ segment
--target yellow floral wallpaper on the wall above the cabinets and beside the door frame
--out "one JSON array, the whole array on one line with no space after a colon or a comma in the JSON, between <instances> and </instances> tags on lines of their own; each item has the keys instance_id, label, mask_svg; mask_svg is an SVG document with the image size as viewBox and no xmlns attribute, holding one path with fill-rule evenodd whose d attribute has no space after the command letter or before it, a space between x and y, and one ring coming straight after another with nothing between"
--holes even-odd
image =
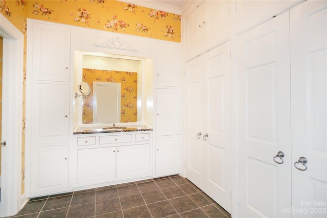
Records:
<instances>
[{"instance_id":1,"label":"yellow floral wallpaper on the wall above the cabinets and beside the door frame","mask_svg":"<svg viewBox=\"0 0 327 218\"><path fill-rule=\"evenodd\" d=\"M27 18L160 40L181 41L181 15L119 1L0 0L0 13L25 36L22 69L24 81L21 121L21 194L25 192ZM124 120L129 118L125 117Z\"/></svg>"}]
</instances>

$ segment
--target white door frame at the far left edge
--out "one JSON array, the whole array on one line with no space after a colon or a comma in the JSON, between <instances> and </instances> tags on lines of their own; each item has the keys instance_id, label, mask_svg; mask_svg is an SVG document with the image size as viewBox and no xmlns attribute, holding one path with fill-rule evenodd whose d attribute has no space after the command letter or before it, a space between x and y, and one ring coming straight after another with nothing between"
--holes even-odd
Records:
<instances>
[{"instance_id":1,"label":"white door frame at the far left edge","mask_svg":"<svg viewBox=\"0 0 327 218\"><path fill-rule=\"evenodd\" d=\"M0 35L3 37L3 116L2 177L0 217L16 214L27 198L21 195L22 144L22 72L24 35L0 14Z\"/></svg>"}]
</instances>

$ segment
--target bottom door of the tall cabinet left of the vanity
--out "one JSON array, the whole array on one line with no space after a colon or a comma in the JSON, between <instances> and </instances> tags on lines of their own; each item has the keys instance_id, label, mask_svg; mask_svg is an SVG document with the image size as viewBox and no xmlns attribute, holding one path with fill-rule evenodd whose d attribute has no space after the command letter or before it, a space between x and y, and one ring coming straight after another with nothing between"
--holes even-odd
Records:
<instances>
[{"instance_id":1,"label":"bottom door of the tall cabinet left of the vanity","mask_svg":"<svg viewBox=\"0 0 327 218\"><path fill-rule=\"evenodd\" d=\"M31 197L68 190L68 145L31 150Z\"/></svg>"}]
</instances>

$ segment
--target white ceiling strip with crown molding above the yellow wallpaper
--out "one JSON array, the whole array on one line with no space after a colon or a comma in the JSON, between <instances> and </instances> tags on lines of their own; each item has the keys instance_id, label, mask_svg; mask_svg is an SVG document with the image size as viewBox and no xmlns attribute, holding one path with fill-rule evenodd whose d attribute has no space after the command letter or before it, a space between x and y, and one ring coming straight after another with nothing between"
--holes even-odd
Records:
<instances>
[{"instance_id":1,"label":"white ceiling strip with crown molding above the yellow wallpaper","mask_svg":"<svg viewBox=\"0 0 327 218\"><path fill-rule=\"evenodd\" d=\"M184 6L193 0L120 0L121 2L132 3L135 5L166 11L175 14L181 14Z\"/></svg>"}]
</instances>

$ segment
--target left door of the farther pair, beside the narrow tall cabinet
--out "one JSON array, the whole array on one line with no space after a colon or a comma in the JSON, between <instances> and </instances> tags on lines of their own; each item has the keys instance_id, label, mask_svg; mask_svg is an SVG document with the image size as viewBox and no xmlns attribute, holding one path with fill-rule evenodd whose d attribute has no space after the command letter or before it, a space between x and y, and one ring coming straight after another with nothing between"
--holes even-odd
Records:
<instances>
[{"instance_id":1,"label":"left door of the farther pair, beside the narrow tall cabinet","mask_svg":"<svg viewBox=\"0 0 327 218\"><path fill-rule=\"evenodd\" d=\"M196 58L185 64L186 177L203 189L203 64ZM202 135L200 135L202 134ZM197 137L199 136L199 138Z\"/></svg>"}]
</instances>

